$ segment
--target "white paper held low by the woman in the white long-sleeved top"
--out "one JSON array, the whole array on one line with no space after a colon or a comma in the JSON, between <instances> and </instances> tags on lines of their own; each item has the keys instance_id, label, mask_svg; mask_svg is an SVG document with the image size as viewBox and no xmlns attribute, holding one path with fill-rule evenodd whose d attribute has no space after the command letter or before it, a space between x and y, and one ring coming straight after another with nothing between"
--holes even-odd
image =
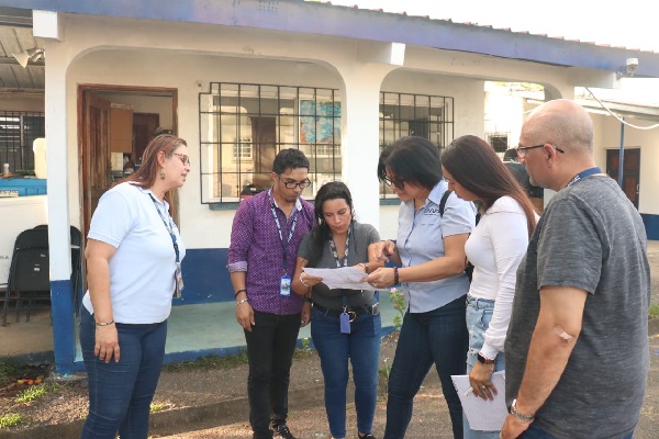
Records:
<instances>
[{"instance_id":1,"label":"white paper held low by the woman in the white long-sleeved top","mask_svg":"<svg viewBox=\"0 0 659 439\"><path fill-rule=\"evenodd\" d=\"M473 394L469 384L469 375L451 375L454 386L462 403L462 410L472 430L498 431L503 427L507 416L505 406L505 371L492 374L492 384L498 394L494 399L483 399Z\"/></svg>"}]
</instances>

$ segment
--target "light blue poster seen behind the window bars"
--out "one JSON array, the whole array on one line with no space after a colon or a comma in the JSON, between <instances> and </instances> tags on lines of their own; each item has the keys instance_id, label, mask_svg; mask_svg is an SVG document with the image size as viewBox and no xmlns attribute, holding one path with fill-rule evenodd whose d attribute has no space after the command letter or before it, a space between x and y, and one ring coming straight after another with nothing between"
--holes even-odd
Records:
<instances>
[{"instance_id":1,"label":"light blue poster seen behind the window bars","mask_svg":"<svg viewBox=\"0 0 659 439\"><path fill-rule=\"evenodd\" d=\"M300 143L334 144L340 139L340 102L300 101Z\"/></svg>"}]
</instances>

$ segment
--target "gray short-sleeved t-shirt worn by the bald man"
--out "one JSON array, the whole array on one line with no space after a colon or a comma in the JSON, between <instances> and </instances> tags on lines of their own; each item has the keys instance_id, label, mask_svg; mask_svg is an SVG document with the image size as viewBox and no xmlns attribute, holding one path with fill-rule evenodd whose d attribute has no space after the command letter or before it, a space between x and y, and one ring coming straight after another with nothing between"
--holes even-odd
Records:
<instances>
[{"instance_id":1,"label":"gray short-sleeved t-shirt worn by the bald man","mask_svg":"<svg viewBox=\"0 0 659 439\"><path fill-rule=\"evenodd\" d=\"M505 340L506 401L516 397L537 322L539 289L588 292L582 329L536 423L559 439L622 438L638 421L649 368L650 268L640 215L608 177L558 192L517 271Z\"/></svg>"}]
</instances>

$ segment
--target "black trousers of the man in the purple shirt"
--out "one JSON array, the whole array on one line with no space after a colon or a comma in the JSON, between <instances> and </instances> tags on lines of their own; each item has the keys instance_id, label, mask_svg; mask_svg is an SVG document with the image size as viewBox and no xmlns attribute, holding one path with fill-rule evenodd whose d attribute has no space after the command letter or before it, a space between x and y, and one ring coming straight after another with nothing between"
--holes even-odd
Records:
<instances>
[{"instance_id":1,"label":"black trousers of the man in the purple shirt","mask_svg":"<svg viewBox=\"0 0 659 439\"><path fill-rule=\"evenodd\" d=\"M254 312L252 333L245 331L249 378L249 424L255 438L271 438L270 418L286 423L293 351L300 333L300 314Z\"/></svg>"}]
</instances>

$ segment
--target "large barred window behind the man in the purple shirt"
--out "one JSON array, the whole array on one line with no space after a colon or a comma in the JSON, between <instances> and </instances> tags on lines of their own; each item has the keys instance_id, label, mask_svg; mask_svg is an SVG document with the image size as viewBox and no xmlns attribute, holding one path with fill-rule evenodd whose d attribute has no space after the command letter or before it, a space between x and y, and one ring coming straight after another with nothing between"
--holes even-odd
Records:
<instances>
[{"instance_id":1,"label":"large barred window behind the man in the purple shirt","mask_svg":"<svg viewBox=\"0 0 659 439\"><path fill-rule=\"evenodd\" d=\"M311 164L312 198L340 179L340 102L333 89L213 82L200 93L202 203L236 202L267 190L282 148Z\"/></svg>"}]
</instances>

